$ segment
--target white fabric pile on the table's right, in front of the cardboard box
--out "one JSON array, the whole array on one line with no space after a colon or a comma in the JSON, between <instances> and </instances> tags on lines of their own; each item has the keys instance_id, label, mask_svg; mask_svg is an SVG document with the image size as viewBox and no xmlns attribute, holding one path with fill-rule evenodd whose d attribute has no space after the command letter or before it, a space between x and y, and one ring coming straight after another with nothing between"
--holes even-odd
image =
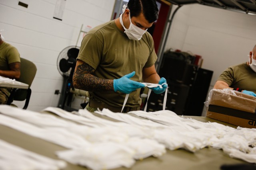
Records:
<instances>
[{"instance_id":1,"label":"white fabric pile on the table's right, in front of the cardboard box","mask_svg":"<svg viewBox=\"0 0 256 170\"><path fill-rule=\"evenodd\" d=\"M171 150L183 148L194 152L210 146L222 149L230 157L256 163L256 129L242 127L235 129L219 123L203 123L191 118L179 117L176 113L168 110L152 113L145 111L129 112L146 118L146 120L139 120L141 122L136 117L131 116L130 119L127 119L128 114L113 113L107 109L96 111L96 113L135 125L148 123L146 126L153 127L152 130L155 131L156 137L154 139ZM86 115L84 114L84 116ZM166 125L166 127L161 126L156 129L153 124L159 123Z\"/></svg>"}]
</instances>

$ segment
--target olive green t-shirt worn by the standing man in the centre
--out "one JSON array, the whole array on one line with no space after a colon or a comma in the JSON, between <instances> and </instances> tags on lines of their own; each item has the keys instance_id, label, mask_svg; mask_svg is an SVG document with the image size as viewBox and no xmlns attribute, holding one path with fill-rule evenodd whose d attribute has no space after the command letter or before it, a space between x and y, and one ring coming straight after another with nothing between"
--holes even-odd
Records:
<instances>
[{"instance_id":1,"label":"olive green t-shirt worn by the standing man in the centre","mask_svg":"<svg viewBox=\"0 0 256 170\"><path fill-rule=\"evenodd\" d=\"M95 69L94 76L104 79L118 79L133 71L130 78L142 82L142 68L156 62L152 36L146 32L139 41L128 39L116 26L114 20L90 30L83 38L77 59ZM114 107L122 107L126 94L121 92L89 92L90 98ZM127 107L139 107L140 89L130 93Z\"/></svg>"}]
</instances>

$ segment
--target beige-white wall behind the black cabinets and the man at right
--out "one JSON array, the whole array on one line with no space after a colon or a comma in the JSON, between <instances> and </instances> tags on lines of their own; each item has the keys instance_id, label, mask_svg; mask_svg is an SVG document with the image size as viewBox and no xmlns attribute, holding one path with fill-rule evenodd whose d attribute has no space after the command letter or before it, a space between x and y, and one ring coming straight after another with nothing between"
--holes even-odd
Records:
<instances>
[{"instance_id":1,"label":"beige-white wall behind the black cabinets and the man at right","mask_svg":"<svg viewBox=\"0 0 256 170\"><path fill-rule=\"evenodd\" d=\"M256 44L255 28L256 16L199 4L186 5L174 16L165 49L201 55L202 68L214 71L211 90L228 66L248 61L247 55ZM202 115L205 114L204 109Z\"/></svg>"}]
</instances>

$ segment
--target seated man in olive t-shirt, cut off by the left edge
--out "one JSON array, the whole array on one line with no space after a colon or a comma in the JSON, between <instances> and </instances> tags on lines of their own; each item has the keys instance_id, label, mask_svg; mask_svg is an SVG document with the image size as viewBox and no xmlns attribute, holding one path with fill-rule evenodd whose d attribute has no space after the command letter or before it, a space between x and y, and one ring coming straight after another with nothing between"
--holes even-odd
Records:
<instances>
[{"instance_id":1,"label":"seated man in olive t-shirt, cut off by the left edge","mask_svg":"<svg viewBox=\"0 0 256 170\"><path fill-rule=\"evenodd\" d=\"M20 78L20 54L12 45L3 41L0 35L0 76ZM9 88L0 88L0 104L6 104L10 96Z\"/></svg>"}]
</instances>

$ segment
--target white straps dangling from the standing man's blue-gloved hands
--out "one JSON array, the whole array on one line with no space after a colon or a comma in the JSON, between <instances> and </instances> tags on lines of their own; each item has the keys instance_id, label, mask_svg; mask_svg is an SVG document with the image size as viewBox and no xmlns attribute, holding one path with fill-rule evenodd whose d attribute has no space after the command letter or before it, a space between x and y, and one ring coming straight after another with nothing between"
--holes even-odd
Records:
<instances>
[{"instance_id":1,"label":"white straps dangling from the standing man's blue-gloved hands","mask_svg":"<svg viewBox=\"0 0 256 170\"><path fill-rule=\"evenodd\" d=\"M154 88L154 87L160 87L160 88L163 88L162 85L166 84L166 83L163 83L163 84L154 84L154 83L142 83L145 85L145 87L148 87L148 88ZM168 84L166 84L168 86ZM166 100L167 100L167 90L168 88L166 88L165 90L165 94L164 94L164 103L163 103L163 110L165 110L165 106L166 106ZM151 89L148 89L148 98L150 96L150 93L151 93ZM123 107L122 107L122 110L121 110L121 113L124 109L124 106L126 105L126 102L128 100L128 97L129 97L129 94L126 94L125 98L124 98L124 104L123 104ZM148 105L148 99L147 99L147 103L145 105L145 108L144 108L144 111L147 110L147 105Z\"/></svg>"}]
</instances>

